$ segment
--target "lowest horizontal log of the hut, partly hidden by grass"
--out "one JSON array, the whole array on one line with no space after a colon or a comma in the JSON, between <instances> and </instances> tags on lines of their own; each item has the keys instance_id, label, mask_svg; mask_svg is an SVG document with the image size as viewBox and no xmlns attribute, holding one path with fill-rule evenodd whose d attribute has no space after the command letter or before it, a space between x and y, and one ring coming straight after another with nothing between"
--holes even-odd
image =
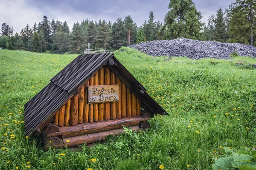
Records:
<instances>
[{"instance_id":1,"label":"lowest horizontal log of the hut, partly hidden by grass","mask_svg":"<svg viewBox=\"0 0 256 170\"><path fill-rule=\"evenodd\" d=\"M131 126L130 128L132 130L140 129L139 125ZM68 147L77 146L79 144L83 144L84 142L86 142L87 144L90 144L90 143L105 139L108 135L118 135L119 133L122 133L123 131L124 131L124 129L121 128L121 129L108 130L108 131L99 132L99 133L91 133L91 134L82 135L82 136L73 136L73 137L64 138L63 142L64 142L64 144L67 144ZM67 139L70 142L67 143L66 142Z\"/></svg>"}]
</instances>

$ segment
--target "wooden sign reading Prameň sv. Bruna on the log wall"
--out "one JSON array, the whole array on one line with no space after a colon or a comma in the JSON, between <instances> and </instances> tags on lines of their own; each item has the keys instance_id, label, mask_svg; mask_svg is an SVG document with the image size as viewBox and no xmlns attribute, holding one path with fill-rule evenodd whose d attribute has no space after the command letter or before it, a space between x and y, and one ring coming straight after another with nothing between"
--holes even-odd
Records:
<instances>
[{"instance_id":1,"label":"wooden sign reading Prame\u0148 sv. Bruna on the log wall","mask_svg":"<svg viewBox=\"0 0 256 170\"><path fill-rule=\"evenodd\" d=\"M88 104L117 102L119 100L119 85L88 86Z\"/></svg>"}]
</instances>

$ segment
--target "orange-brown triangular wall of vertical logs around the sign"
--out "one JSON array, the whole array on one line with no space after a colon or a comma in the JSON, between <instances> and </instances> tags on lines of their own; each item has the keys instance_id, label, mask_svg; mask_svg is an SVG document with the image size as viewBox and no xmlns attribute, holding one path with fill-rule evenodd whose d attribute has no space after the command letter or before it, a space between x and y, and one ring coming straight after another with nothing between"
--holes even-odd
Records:
<instances>
[{"instance_id":1,"label":"orange-brown triangular wall of vertical logs around the sign","mask_svg":"<svg viewBox=\"0 0 256 170\"><path fill-rule=\"evenodd\" d=\"M88 104L88 85L119 85L119 101L111 103ZM54 124L57 126L77 125L110 119L120 119L141 115L140 100L108 68L103 66L72 96L64 106L55 112Z\"/></svg>"}]
</instances>

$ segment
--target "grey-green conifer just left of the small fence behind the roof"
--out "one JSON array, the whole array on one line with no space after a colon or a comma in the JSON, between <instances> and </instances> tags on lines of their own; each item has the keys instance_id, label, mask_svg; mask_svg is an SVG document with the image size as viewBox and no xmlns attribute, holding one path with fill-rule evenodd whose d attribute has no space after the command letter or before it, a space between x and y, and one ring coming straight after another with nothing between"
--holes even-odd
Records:
<instances>
[{"instance_id":1,"label":"grey-green conifer just left of the small fence behind the roof","mask_svg":"<svg viewBox=\"0 0 256 170\"><path fill-rule=\"evenodd\" d=\"M72 28L72 33L70 34L70 52L81 54L84 51L84 48L87 47L87 36L82 30L80 24L74 23Z\"/></svg>"}]
</instances>

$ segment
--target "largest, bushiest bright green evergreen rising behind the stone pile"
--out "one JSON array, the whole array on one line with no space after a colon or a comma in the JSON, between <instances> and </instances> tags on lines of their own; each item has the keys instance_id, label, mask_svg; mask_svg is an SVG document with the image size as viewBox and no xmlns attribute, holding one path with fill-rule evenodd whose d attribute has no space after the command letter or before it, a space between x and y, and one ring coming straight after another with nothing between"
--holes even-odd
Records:
<instances>
[{"instance_id":1,"label":"largest, bushiest bright green evergreen rising behind the stone pile","mask_svg":"<svg viewBox=\"0 0 256 170\"><path fill-rule=\"evenodd\" d=\"M170 0L168 8L170 11L164 19L168 38L203 39L201 31L204 24L200 21L201 12L197 11L192 0Z\"/></svg>"}]
</instances>

